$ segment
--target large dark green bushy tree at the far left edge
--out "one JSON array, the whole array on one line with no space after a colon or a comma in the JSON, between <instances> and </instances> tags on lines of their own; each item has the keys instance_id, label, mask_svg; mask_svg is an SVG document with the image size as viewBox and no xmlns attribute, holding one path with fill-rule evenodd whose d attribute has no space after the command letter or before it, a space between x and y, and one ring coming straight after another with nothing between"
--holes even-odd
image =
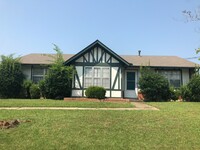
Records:
<instances>
[{"instance_id":1,"label":"large dark green bushy tree at the far left edge","mask_svg":"<svg viewBox=\"0 0 200 150\"><path fill-rule=\"evenodd\" d=\"M16 98L23 84L20 58L13 55L1 56L0 62L0 97Z\"/></svg>"}]
</instances>

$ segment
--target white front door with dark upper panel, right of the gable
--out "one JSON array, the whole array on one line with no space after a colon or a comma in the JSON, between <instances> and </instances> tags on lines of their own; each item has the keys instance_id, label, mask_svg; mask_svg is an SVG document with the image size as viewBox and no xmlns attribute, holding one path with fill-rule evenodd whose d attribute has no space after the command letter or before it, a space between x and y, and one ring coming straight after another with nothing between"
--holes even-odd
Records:
<instances>
[{"instance_id":1,"label":"white front door with dark upper panel, right of the gable","mask_svg":"<svg viewBox=\"0 0 200 150\"><path fill-rule=\"evenodd\" d=\"M125 75L125 93L126 98L137 98L136 95L136 72L135 71L126 71Z\"/></svg>"}]
</instances>

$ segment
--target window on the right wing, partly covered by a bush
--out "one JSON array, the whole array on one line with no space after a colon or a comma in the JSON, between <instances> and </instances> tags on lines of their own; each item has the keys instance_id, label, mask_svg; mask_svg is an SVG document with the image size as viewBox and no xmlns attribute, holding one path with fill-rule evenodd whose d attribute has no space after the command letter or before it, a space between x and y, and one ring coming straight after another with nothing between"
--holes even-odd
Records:
<instances>
[{"instance_id":1,"label":"window on the right wing, partly covered by a bush","mask_svg":"<svg viewBox=\"0 0 200 150\"><path fill-rule=\"evenodd\" d=\"M167 78L169 84L176 88L181 86L181 72L175 70L158 70L158 73Z\"/></svg>"}]
</instances>

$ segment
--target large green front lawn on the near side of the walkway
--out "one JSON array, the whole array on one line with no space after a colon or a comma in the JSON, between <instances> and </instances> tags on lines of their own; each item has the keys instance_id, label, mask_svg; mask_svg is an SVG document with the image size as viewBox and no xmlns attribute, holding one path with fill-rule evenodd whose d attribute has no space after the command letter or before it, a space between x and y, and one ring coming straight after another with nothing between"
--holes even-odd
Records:
<instances>
[{"instance_id":1,"label":"large green front lawn on the near side of the walkway","mask_svg":"<svg viewBox=\"0 0 200 150\"><path fill-rule=\"evenodd\" d=\"M200 149L200 103L148 104L160 111L0 110L1 119L31 120L0 130L0 147Z\"/></svg>"}]
</instances>

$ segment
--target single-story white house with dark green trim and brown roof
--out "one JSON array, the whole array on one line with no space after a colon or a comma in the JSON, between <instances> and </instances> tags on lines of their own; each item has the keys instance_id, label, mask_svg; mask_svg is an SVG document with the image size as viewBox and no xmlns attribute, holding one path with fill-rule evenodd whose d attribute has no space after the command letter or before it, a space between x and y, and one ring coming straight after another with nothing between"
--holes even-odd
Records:
<instances>
[{"instance_id":1,"label":"single-story white house with dark green trim and brown roof","mask_svg":"<svg viewBox=\"0 0 200 150\"><path fill-rule=\"evenodd\" d=\"M72 96L83 97L91 85L106 88L107 97L136 98L140 67L150 66L163 74L174 87L189 82L195 63L177 56L118 55L100 41L95 41L75 55L64 54L65 65L77 71L72 85ZM47 54L29 54L21 58L27 79L43 79L52 57Z\"/></svg>"}]
</instances>

